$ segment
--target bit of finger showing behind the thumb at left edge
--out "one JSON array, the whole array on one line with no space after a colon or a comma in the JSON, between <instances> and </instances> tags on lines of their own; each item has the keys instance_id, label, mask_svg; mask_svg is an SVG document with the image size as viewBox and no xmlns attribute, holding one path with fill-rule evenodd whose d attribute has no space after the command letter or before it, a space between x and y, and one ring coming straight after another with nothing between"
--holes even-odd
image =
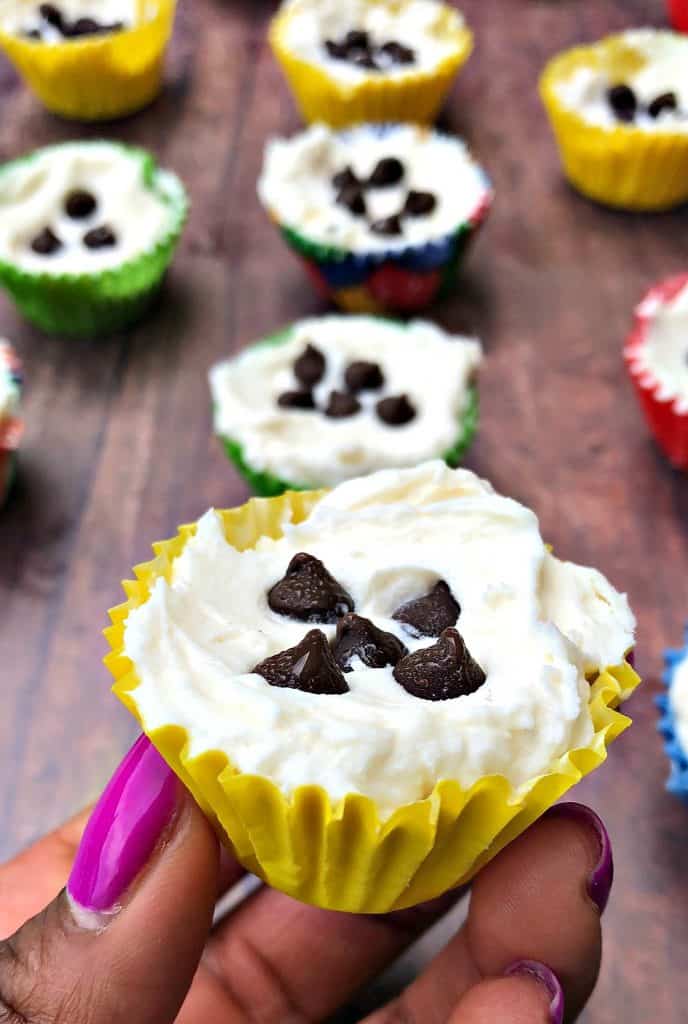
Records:
<instances>
[{"instance_id":1,"label":"bit of finger showing behind the thumb at left edge","mask_svg":"<svg viewBox=\"0 0 688 1024\"><path fill-rule=\"evenodd\" d=\"M67 883L89 811L0 866L0 935L33 918Z\"/></svg>"}]
</instances>

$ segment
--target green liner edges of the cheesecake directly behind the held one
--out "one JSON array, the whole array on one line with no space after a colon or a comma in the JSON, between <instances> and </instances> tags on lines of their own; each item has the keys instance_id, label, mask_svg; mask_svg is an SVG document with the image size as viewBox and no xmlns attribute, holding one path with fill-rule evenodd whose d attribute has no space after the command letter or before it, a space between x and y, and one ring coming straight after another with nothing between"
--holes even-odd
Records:
<instances>
[{"instance_id":1,"label":"green liner edges of the cheesecake directly behind the held one","mask_svg":"<svg viewBox=\"0 0 688 1024\"><path fill-rule=\"evenodd\" d=\"M391 317L378 318L391 319ZM392 321L392 323L398 324L399 327L407 326L401 321ZM256 342L254 347L257 348L263 345L280 345L289 341L291 336L292 328L287 328L285 331L280 331L277 334L270 335L269 338L264 338L262 341ZM478 389L475 385L471 385L468 389L468 400L466 402L466 407L463 410L459 421L460 430L457 439L451 447L444 452L441 456L444 462L448 466L451 466L451 468L456 468L461 464L466 452L473 442L473 438L475 437L478 429L479 418L480 399ZM226 437L223 434L219 434L218 437L227 459L233 463L236 471L244 477L253 494L258 498L277 498L280 495L284 495L287 490L317 490L322 486L321 483L312 482L293 483L291 481L283 480L273 473L254 469L247 462L244 454L244 447L239 443L239 441L233 440L231 437Z\"/></svg>"}]
</instances>

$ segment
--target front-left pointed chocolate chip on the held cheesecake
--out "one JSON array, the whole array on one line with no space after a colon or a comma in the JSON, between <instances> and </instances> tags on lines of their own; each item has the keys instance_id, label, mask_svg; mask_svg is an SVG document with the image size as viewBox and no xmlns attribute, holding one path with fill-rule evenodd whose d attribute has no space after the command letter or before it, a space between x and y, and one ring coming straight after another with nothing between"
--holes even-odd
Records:
<instances>
[{"instance_id":1,"label":"front-left pointed chocolate chip on the held cheesecake","mask_svg":"<svg viewBox=\"0 0 688 1024\"><path fill-rule=\"evenodd\" d=\"M266 657L253 671L270 686L304 693L347 693L349 689L321 630L311 630L301 643Z\"/></svg>"}]
</instances>

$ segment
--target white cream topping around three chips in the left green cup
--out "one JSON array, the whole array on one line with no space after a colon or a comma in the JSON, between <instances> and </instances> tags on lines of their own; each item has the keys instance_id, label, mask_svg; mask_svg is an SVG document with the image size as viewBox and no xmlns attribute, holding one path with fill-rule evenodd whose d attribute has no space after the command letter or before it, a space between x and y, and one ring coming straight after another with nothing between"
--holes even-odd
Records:
<instances>
[{"instance_id":1,"label":"white cream topping around three chips in the left green cup","mask_svg":"<svg viewBox=\"0 0 688 1024\"><path fill-rule=\"evenodd\" d=\"M76 189L97 200L95 212L85 219L73 219L64 210L67 196ZM24 270L89 273L120 266L150 249L172 216L146 187L139 157L110 142L49 146L9 171L0 170L0 259ZM103 224L114 230L117 244L88 249L85 233ZM62 248L43 256L31 245L48 226Z\"/></svg>"}]
</instances>

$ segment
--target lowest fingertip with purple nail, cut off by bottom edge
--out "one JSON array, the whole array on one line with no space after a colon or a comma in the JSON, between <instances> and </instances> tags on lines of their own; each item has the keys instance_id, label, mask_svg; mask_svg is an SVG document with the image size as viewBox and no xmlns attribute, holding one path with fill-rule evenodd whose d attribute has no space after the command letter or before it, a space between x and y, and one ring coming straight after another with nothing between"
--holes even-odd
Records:
<instances>
[{"instance_id":1,"label":"lowest fingertip with purple nail, cut off by bottom edge","mask_svg":"<svg viewBox=\"0 0 688 1024\"><path fill-rule=\"evenodd\" d=\"M562 1024L564 996L549 968L524 961L507 975L470 988L448 1024Z\"/></svg>"}]
</instances>

